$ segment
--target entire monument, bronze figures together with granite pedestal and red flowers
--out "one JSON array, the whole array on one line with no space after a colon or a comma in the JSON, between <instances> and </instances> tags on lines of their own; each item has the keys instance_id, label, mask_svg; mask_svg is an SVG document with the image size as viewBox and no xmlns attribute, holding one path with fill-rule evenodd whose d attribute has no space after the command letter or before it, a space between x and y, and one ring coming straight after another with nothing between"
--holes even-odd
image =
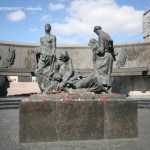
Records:
<instances>
[{"instance_id":1,"label":"entire monument, bronze figures together with granite pedestal and red flowers","mask_svg":"<svg viewBox=\"0 0 150 150\"><path fill-rule=\"evenodd\" d=\"M88 44L94 71L82 76L67 51L56 58L56 37L50 31L45 25L46 35L35 49L41 93L20 104L20 142L137 137L137 102L111 92L117 54L110 36L94 27L98 40Z\"/></svg>"}]
</instances>

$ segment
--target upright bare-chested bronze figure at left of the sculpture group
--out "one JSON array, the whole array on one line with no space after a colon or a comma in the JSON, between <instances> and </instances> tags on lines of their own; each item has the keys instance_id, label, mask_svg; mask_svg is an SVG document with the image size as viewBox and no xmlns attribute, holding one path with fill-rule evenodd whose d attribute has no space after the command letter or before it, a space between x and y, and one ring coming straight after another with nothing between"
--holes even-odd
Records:
<instances>
[{"instance_id":1,"label":"upright bare-chested bronze figure at left of the sculpture group","mask_svg":"<svg viewBox=\"0 0 150 150\"><path fill-rule=\"evenodd\" d=\"M37 69L35 75L41 92L45 91L49 86L54 74L54 64L56 62L56 36L51 33L51 25L45 25L45 36L40 38L40 48L35 49L37 58Z\"/></svg>"}]
</instances>

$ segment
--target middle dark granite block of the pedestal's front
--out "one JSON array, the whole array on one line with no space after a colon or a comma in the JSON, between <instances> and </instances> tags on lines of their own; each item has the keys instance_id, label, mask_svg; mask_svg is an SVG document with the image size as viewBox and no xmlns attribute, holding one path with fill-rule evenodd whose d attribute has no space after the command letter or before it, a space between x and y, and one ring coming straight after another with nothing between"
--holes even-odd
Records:
<instances>
[{"instance_id":1,"label":"middle dark granite block of the pedestal's front","mask_svg":"<svg viewBox=\"0 0 150 150\"><path fill-rule=\"evenodd\" d=\"M73 101L60 103L59 140L94 140L104 138L103 103Z\"/></svg>"}]
</instances>

